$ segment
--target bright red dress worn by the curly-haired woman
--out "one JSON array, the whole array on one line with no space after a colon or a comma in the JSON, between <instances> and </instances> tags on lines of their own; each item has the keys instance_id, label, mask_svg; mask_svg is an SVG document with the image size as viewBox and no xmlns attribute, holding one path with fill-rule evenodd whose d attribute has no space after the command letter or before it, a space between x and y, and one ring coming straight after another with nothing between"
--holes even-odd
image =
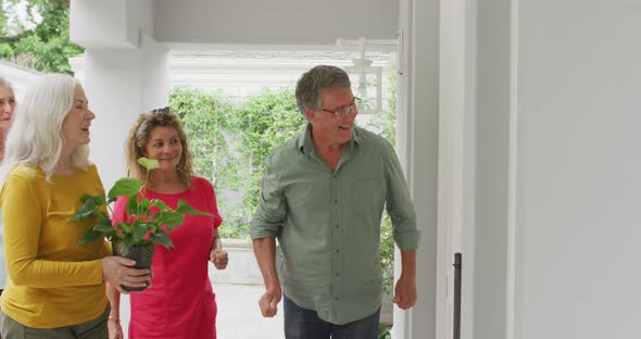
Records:
<instances>
[{"instance_id":1,"label":"bright red dress worn by the curly-haired woman","mask_svg":"<svg viewBox=\"0 0 641 339\"><path fill-rule=\"evenodd\" d=\"M215 339L216 298L208 275L214 228L223 222L212 185L194 177L192 189L176 194L147 191L175 209L183 199L192 208L212 215L187 215L185 223L169 233L174 248L155 247L152 287L131 292L129 339ZM126 218L126 197L121 197L114 216ZM153 212L153 211L152 211Z\"/></svg>"}]
</instances>

